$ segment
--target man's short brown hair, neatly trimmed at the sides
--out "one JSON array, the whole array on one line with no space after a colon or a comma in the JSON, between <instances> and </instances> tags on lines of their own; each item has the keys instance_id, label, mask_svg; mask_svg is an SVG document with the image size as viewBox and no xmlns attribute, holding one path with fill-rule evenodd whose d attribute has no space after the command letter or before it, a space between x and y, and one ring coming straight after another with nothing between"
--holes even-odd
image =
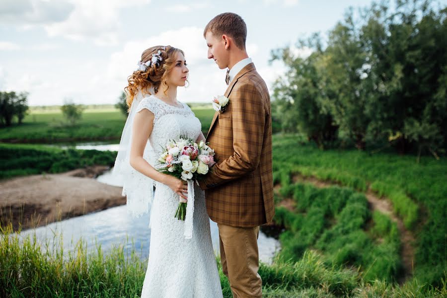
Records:
<instances>
[{"instance_id":1,"label":"man's short brown hair, neatly trimmed at the sides","mask_svg":"<svg viewBox=\"0 0 447 298\"><path fill-rule=\"evenodd\" d=\"M205 27L203 37L207 32L213 35L229 35L236 45L241 50L245 49L245 41L247 40L247 25L244 20L232 12L224 12L216 15Z\"/></svg>"}]
</instances>

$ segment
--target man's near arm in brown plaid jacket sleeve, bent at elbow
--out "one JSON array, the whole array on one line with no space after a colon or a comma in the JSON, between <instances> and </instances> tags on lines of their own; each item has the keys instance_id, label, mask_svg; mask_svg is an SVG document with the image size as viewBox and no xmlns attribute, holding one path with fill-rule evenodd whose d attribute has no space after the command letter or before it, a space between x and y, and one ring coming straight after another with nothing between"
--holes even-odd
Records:
<instances>
[{"instance_id":1,"label":"man's near arm in brown plaid jacket sleeve, bent at elbow","mask_svg":"<svg viewBox=\"0 0 447 298\"><path fill-rule=\"evenodd\" d=\"M239 86L231 100L234 153L211 168L200 183L206 190L254 171L259 164L265 126L265 106L261 93L252 83Z\"/></svg>"}]
</instances>

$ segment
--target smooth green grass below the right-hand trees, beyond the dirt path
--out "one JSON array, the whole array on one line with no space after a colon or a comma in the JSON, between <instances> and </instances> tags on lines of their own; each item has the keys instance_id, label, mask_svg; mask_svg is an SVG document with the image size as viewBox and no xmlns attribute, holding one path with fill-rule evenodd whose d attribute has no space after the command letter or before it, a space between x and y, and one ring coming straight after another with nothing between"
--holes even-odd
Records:
<instances>
[{"instance_id":1,"label":"smooth green grass below the right-hand trees, beyond the dirt path","mask_svg":"<svg viewBox=\"0 0 447 298\"><path fill-rule=\"evenodd\" d=\"M447 272L447 159L358 150L319 150L297 136L274 136L274 179L281 194L289 175L330 180L365 191L368 186L393 203L395 213L417 237L415 275L440 286ZM289 181L289 182L288 182ZM284 189L283 189L284 188ZM383 227L376 227L377 230Z\"/></svg>"}]
</instances>

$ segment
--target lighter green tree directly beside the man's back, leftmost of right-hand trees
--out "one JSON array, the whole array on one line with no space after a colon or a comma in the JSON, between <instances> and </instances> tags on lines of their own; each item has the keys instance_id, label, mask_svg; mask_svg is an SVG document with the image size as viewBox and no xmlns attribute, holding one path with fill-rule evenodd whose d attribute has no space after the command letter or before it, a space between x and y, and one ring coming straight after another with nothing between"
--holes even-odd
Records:
<instances>
[{"instance_id":1,"label":"lighter green tree directly beside the man's back, leftmost of right-hand trees","mask_svg":"<svg viewBox=\"0 0 447 298\"><path fill-rule=\"evenodd\" d=\"M272 51L272 61L282 60L287 68L273 87L273 116L280 119L283 131L302 132L321 149L332 147L338 126L324 107L329 94L320 72L324 60L320 38L314 35L299 46L312 47L314 52L302 58L290 47Z\"/></svg>"}]
</instances>

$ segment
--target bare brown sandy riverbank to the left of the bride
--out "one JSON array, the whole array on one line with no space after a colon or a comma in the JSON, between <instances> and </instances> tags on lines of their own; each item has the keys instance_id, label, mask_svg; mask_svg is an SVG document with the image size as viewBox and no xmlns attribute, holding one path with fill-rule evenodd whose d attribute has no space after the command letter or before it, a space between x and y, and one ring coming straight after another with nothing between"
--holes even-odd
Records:
<instances>
[{"instance_id":1,"label":"bare brown sandy riverbank to the left of the bride","mask_svg":"<svg viewBox=\"0 0 447 298\"><path fill-rule=\"evenodd\" d=\"M108 169L95 165L0 181L0 224L25 229L126 204L121 187L93 179Z\"/></svg>"}]
</instances>

